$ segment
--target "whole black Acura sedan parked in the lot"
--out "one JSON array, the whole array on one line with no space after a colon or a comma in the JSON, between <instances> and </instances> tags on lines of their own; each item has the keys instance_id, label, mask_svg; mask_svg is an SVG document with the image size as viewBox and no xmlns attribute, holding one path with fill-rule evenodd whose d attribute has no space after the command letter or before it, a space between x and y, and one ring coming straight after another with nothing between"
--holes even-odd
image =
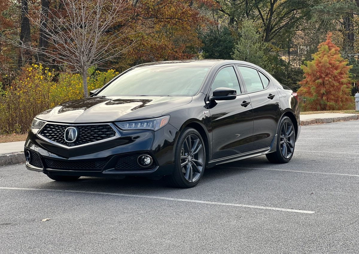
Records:
<instances>
[{"instance_id":1,"label":"whole black Acura sedan parked in the lot","mask_svg":"<svg viewBox=\"0 0 359 254\"><path fill-rule=\"evenodd\" d=\"M297 94L260 67L167 61L37 115L24 152L28 169L57 181L165 176L189 188L215 165L264 154L287 163L299 133Z\"/></svg>"}]
</instances>

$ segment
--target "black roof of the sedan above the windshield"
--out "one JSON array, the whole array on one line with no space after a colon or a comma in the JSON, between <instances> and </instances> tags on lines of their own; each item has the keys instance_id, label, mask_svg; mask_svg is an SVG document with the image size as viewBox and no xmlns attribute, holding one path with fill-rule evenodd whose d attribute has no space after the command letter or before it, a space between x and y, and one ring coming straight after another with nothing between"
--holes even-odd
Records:
<instances>
[{"instance_id":1,"label":"black roof of the sedan above the windshield","mask_svg":"<svg viewBox=\"0 0 359 254\"><path fill-rule=\"evenodd\" d=\"M186 65L186 66L214 66L216 64L246 64L246 65L252 65L255 66L249 62L244 61L236 61L236 60L222 60L222 59L200 59L200 60L174 60L174 61L161 61L161 62L151 62L146 64L140 64L136 65L135 67L145 67L145 66L154 66L154 65L160 65L160 66L171 66L171 65Z\"/></svg>"}]
</instances>

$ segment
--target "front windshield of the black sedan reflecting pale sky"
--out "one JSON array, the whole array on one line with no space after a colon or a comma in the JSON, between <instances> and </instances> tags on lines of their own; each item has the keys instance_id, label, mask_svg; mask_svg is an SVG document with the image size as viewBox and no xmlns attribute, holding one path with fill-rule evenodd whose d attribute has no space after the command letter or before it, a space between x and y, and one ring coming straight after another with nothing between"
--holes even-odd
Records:
<instances>
[{"instance_id":1,"label":"front windshield of the black sedan reflecting pale sky","mask_svg":"<svg viewBox=\"0 0 359 254\"><path fill-rule=\"evenodd\" d=\"M193 96L208 66L137 67L118 77L98 96Z\"/></svg>"}]
</instances>

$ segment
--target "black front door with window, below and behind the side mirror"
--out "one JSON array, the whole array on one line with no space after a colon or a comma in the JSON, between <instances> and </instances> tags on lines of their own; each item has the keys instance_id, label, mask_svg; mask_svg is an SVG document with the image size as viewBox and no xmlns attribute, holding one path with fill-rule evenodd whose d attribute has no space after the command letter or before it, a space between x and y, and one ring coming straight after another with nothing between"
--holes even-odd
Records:
<instances>
[{"instance_id":1,"label":"black front door with window, below and behind the side mirror","mask_svg":"<svg viewBox=\"0 0 359 254\"><path fill-rule=\"evenodd\" d=\"M218 70L211 84L209 95L216 88L237 90L234 100L218 100L209 103L213 135L213 160L252 151L253 113L250 98L241 89L235 66Z\"/></svg>"}]
</instances>

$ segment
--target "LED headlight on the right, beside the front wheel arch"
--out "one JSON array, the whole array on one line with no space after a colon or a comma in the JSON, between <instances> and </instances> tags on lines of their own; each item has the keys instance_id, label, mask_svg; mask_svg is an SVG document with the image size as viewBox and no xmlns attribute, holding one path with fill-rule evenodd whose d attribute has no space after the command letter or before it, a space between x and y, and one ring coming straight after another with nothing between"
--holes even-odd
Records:
<instances>
[{"instance_id":1,"label":"LED headlight on the right, beside the front wheel arch","mask_svg":"<svg viewBox=\"0 0 359 254\"><path fill-rule=\"evenodd\" d=\"M157 131L169 122L169 116L163 116L159 118L117 122L116 125L122 130L153 130Z\"/></svg>"}]
</instances>

